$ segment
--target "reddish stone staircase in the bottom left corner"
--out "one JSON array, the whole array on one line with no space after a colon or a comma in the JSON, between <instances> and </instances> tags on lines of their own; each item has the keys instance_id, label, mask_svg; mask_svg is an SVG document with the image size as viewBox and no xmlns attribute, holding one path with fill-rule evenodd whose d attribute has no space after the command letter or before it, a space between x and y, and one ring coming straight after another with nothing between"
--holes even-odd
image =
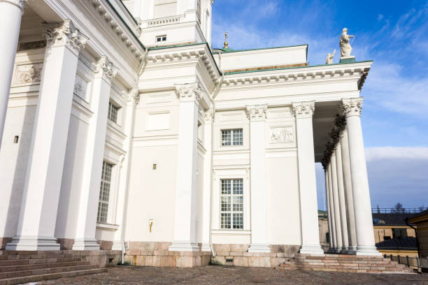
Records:
<instances>
[{"instance_id":1,"label":"reddish stone staircase in the bottom left corner","mask_svg":"<svg viewBox=\"0 0 428 285\"><path fill-rule=\"evenodd\" d=\"M0 251L0 285L106 272L72 251Z\"/></svg>"}]
</instances>

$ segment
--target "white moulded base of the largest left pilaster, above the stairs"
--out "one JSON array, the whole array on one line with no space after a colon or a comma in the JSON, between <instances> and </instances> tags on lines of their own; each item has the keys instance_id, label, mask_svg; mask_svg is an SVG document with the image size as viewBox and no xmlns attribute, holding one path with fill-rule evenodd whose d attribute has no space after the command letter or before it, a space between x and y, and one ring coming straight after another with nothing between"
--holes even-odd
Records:
<instances>
[{"instance_id":1,"label":"white moulded base of the largest left pilaster, above the stairs","mask_svg":"<svg viewBox=\"0 0 428 285\"><path fill-rule=\"evenodd\" d=\"M59 243L55 237L41 236L17 236L13 237L12 241L6 244L6 250L59 250Z\"/></svg>"}]
</instances>

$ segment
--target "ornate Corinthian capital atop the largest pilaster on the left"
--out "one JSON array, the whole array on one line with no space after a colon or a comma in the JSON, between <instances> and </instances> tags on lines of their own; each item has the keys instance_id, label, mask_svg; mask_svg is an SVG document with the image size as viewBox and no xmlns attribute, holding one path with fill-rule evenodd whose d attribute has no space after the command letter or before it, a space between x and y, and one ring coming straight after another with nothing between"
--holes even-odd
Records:
<instances>
[{"instance_id":1,"label":"ornate Corinthian capital atop the largest pilaster on the left","mask_svg":"<svg viewBox=\"0 0 428 285\"><path fill-rule=\"evenodd\" d=\"M43 24L43 36L47 40L47 47L65 45L69 50L78 55L80 49L85 47L88 38L74 27L71 20L62 23Z\"/></svg>"}]
</instances>

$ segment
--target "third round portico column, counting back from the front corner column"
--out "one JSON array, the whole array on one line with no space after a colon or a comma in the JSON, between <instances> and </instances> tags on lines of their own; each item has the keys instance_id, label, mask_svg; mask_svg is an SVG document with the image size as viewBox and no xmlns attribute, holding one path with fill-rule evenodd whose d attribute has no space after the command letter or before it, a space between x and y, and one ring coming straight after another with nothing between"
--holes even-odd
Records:
<instances>
[{"instance_id":1,"label":"third round portico column, counting back from the front corner column","mask_svg":"<svg viewBox=\"0 0 428 285\"><path fill-rule=\"evenodd\" d=\"M341 142L338 141L336 145L336 171L337 171L337 188L339 211L341 213L341 230L342 230L342 252L348 254L348 224L346 219L346 202L345 202L345 189L343 188L343 170L342 170L342 151Z\"/></svg>"}]
</instances>

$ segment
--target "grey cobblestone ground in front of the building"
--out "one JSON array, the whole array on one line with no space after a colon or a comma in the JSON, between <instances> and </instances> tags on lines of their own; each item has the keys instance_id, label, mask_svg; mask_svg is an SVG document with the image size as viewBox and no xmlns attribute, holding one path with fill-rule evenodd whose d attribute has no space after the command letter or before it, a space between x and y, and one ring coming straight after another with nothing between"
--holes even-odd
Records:
<instances>
[{"instance_id":1,"label":"grey cobblestone ground in front of the building","mask_svg":"<svg viewBox=\"0 0 428 285\"><path fill-rule=\"evenodd\" d=\"M108 272L62 278L36 284L428 284L428 273L367 274L301 272L271 268L206 266L202 268L114 267Z\"/></svg>"}]
</instances>

